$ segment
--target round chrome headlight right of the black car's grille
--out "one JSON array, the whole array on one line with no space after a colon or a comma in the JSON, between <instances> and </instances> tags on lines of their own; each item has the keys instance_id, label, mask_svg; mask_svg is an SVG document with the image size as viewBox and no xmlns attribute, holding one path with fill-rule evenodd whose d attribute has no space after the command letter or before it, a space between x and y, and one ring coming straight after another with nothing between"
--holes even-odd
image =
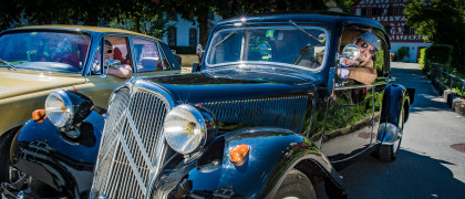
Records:
<instances>
[{"instance_id":1,"label":"round chrome headlight right of the black car's grille","mask_svg":"<svg viewBox=\"0 0 465 199\"><path fill-rule=\"evenodd\" d=\"M174 107L166 115L163 134L174 150L186 155L205 144L207 127L200 112L184 104Z\"/></svg>"}]
</instances>

